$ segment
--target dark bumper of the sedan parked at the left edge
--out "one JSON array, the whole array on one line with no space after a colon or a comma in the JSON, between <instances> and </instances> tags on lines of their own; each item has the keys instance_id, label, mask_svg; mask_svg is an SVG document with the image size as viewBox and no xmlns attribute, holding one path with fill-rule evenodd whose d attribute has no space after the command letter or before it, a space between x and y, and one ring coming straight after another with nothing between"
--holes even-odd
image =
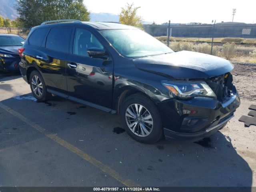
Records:
<instances>
[{"instance_id":1,"label":"dark bumper of the sedan parked at the left edge","mask_svg":"<svg viewBox=\"0 0 256 192\"><path fill-rule=\"evenodd\" d=\"M19 71L20 58L1 58L0 57L0 71L11 72Z\"/></svg>"}]
</instances>

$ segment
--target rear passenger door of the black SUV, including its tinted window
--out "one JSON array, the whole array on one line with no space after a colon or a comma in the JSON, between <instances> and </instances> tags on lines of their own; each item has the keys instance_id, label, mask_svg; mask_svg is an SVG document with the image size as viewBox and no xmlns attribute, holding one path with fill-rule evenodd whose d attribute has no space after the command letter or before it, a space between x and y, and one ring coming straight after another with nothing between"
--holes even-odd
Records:
<instances>
[{"instance_id":1,"label":"rear passenger door of the black SUV, including its tinted window","mask_svg":"<svg viewBox=\"0 0 256 192\"><path fill-rule=\"evenodd\" d=\"M50 90L66 93L66 58L70 47L72 27L51 28L36 58Z\"/></svg>"}]
</instances>

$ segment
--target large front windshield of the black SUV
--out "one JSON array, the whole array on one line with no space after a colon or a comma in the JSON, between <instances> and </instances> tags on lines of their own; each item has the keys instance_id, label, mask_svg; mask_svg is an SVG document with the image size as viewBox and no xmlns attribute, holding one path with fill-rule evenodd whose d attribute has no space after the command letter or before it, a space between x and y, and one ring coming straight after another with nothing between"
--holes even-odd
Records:
<instances>
[{"instance_id":1,"label":"large front windshield of the black SUV","mask_svg":"<svg viewBox=\"0 0 256 192\"><path fill-rule=\"evenodd\" d=\"M173 52L142 30L104 30L102 34L124 56L143 57Z\"/></svg>"}]
</instances>

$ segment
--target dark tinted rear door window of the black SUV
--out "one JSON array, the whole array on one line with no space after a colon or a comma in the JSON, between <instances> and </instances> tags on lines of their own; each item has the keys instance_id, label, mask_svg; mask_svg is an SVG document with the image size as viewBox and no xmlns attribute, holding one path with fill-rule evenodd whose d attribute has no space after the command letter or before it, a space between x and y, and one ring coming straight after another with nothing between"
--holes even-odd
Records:
<instances>
[{"instance_id":1,"label":"dark tinted rear door window of the black SUV","mask_svg":"<svg viewBox=\"0 0 256 192\"><path fill-rule=\"evenodd\" d=\"M52 28L47 36L45 47L60 52L68 52L71 29L69 27Z\"/></svg>"}]
</instances>

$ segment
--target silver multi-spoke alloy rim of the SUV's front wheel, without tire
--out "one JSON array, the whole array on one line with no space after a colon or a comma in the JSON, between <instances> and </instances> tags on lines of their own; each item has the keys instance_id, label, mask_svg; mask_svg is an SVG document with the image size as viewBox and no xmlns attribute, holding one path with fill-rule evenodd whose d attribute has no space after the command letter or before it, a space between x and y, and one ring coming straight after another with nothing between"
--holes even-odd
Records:
<instances>
[{"instance_id":1,"label":"silver multi-spoke alloy rim of the SUV's front wheel, without tire","mask_svg":"<svg viewBox=\"0 0 256 192\"><path fill-rule=\"evenodd\" d=\"M141 104L131 104L126 109L125 119L129 129L137 136L146 137L152 132L152 116Z\"/></svg>"}]
</instances>

